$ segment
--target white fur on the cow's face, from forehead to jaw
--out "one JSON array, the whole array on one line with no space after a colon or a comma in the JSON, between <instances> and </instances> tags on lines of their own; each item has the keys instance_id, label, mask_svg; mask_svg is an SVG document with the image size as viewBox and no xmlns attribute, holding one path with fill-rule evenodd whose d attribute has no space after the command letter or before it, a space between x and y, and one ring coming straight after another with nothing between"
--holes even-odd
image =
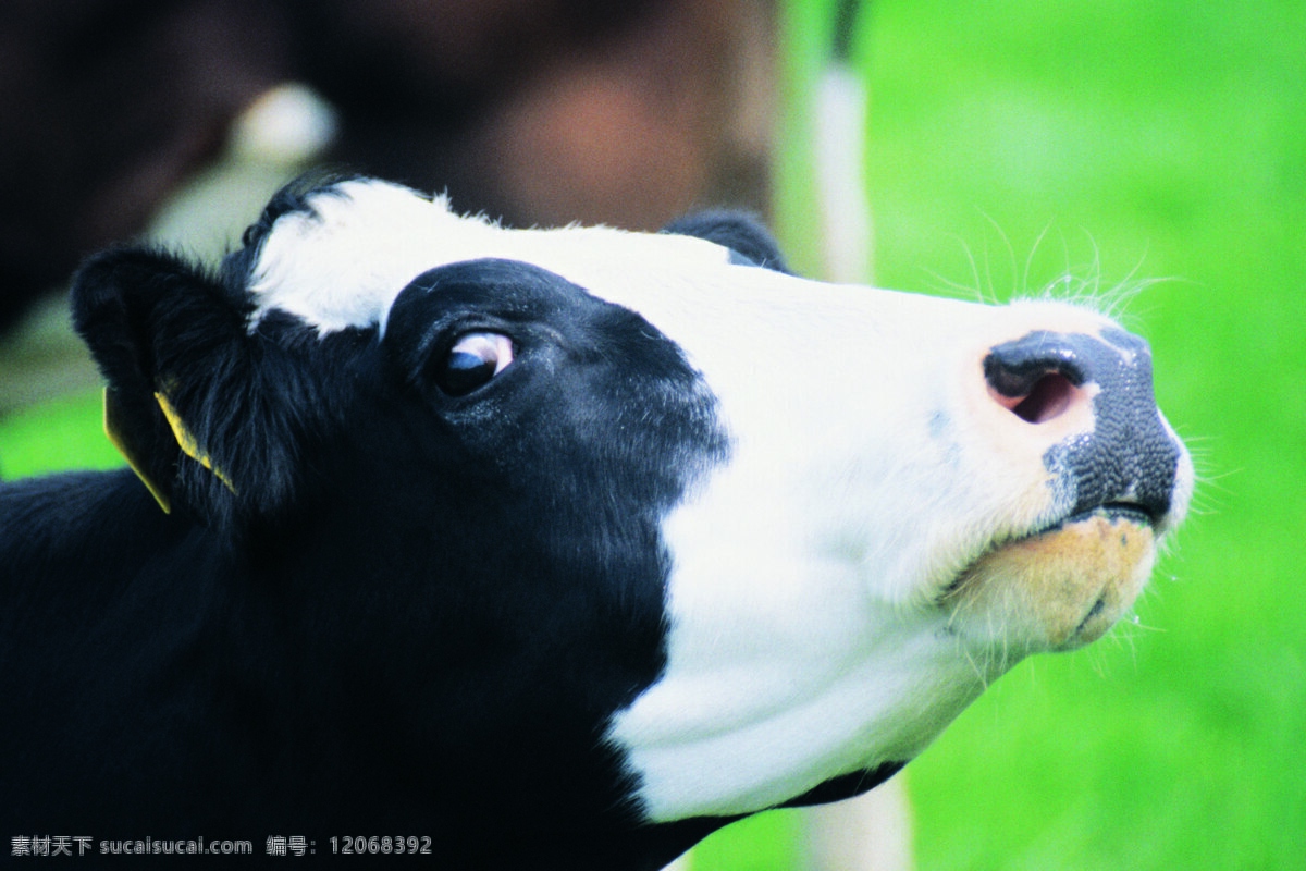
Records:
<instances>
[{"instance_id":1,"label":"white fur on the cow's face, from forehead to jaw","mask_svg":"<svg viewBox=\"0 0 1306 871\"><path fill-rule=\"evenodd\" d=\"M281 308L321 332L384 326L419 273L512 257L639 311L720 398L730 462L665 518L667 669L609 735L652 819L754 811L905 761L1015 661L936 598L1059 517L1042 454L1092 417L1020 420L981 360L1033 329L1109 321L821 285L696 239L502 230L380 183L343 193L277 223L255 323ZM1190 492L1185 453L1168 526Z\"/></svg>"}]
</instances>

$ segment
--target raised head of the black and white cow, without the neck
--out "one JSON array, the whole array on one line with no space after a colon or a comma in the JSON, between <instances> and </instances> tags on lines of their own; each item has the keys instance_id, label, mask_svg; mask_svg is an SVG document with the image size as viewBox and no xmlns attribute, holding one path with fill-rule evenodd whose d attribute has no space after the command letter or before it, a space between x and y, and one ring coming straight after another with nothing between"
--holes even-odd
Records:
<instances>
[{"instance_id":1,"label":"raised head of the black and white cow, without the neck","mask_svg":"<svg viewBox=\"0 0 1306 871\"><path fill-rule=\"evenodd\" d=\"M874 785L1118 620L1191 491L1107 319L804 281L730 217L290 188L215 273L97 259L76 319L174 511L384 590L358 619L402 636L405 735L567 747L636 824Z\"/></svg>"}]
</instances>

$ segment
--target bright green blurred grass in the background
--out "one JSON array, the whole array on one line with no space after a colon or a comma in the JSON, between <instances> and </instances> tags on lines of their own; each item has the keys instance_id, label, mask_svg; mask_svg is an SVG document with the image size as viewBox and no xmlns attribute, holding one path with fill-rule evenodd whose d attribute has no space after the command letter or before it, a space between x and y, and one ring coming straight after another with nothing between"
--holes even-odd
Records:
<instances>
[{"instance_id":1,"label":"bright green blurred grass in the background","mask_svg":"<svg viewBox=\"0 0 1306 871\"><path fill-rule=\"evenodd\" d=\"M908 767L918 867L1306 868L1306 4L866 7L876 283L1168 278L1126 321L1204 475L1140 626L1023 663ZM777 223L807 269L832 9L785 9ZM8 477L114 462L97 397L0 422ZM798 829L761 815L693 868L790 868Z\"/></svg>"}]
</instances>

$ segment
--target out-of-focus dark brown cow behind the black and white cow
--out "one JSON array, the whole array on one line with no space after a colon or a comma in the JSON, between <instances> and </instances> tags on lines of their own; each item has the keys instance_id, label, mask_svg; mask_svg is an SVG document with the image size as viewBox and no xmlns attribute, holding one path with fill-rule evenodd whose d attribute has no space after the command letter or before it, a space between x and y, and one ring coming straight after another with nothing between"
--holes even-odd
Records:
<instances>
[{"instance_id":1,"label":"out-of-focus dark brown cow behind the black and white cow","mask_svg":"<svg viewBox=\"0 0 1306 871\"><path fill-rule=\"evenodd\" d=\"M769 0L5 7L0 326L140 231L289 80L338 112L328 159L508 223L764 206Z\"/></svg>"}]
</instances>

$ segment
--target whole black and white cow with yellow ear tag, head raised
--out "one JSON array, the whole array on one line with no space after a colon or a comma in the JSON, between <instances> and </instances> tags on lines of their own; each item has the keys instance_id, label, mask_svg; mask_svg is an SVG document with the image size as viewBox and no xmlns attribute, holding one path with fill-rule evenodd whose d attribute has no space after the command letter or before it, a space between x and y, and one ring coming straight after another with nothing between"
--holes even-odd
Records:
<instances>
[{"instance_id":1,"label":"whole black and white cow with yellow ear tag, head raised","mask_svg":"<svg viewBox=\"0 0 1306 871\"><path fill-rule=\"evenodd\" d=\"M74 319L155 495L0 490L12 834L658 867L1101 636L1191 492L1109 320L804 281L730 217L298 185Z\"/></svg>"}]
</instances>

